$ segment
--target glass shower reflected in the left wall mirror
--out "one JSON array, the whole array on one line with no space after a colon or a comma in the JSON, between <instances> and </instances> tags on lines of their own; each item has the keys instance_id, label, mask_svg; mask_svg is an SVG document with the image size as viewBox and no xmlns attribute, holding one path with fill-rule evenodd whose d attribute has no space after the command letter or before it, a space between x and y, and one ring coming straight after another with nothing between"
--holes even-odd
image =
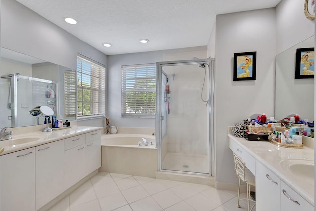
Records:
<instances>
[{"instance_id":1,"label":"glass shower reflected in the left wall mirror","mask_svg":"<svg viewBox=\"0 0 316 211\"><path fill-rule=\"evenodd\" d=\"M42 105L49 106L56 114L57 83L20 74L1 76L1 125L22 127L44 124L45 117L34 116L31 110Z\"/></svg>"}]
</instances>

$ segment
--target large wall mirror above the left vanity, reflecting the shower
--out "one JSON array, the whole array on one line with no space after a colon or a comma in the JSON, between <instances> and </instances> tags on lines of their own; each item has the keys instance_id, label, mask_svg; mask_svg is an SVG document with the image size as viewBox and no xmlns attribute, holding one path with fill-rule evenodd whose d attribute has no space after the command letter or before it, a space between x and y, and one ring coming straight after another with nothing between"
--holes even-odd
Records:
<instances>
[{"instance_id":1,"label":"large wall mirror above the left vanity, reflecting the shower","mask_svg":"<svg viewBox=\"0 0 316 211\"><path fill-rule=\"evenodd\" d=\"M71 69L9 49L0 50L0 128L44 124L44 116L31 112L42 105L52 108L57 117L63 116L63 73Z\"/></svg>"}]
</instances>

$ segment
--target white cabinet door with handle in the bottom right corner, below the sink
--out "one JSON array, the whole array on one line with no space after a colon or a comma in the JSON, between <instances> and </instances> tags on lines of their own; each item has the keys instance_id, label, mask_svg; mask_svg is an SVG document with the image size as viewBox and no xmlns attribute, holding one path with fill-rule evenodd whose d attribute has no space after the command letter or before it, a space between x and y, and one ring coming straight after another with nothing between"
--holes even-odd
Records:
<instances>
[{"instance_id":1,"label":"white cabinet door with handle in the bottom right corner, below the sink","mask_svg":"<svg viewBox=\"0 0 316 211\"><path fill-rule=\"evenodd\" d=\"M281 211L314 211L314 207L281 182Z\"/></svg>"}]
</instances>

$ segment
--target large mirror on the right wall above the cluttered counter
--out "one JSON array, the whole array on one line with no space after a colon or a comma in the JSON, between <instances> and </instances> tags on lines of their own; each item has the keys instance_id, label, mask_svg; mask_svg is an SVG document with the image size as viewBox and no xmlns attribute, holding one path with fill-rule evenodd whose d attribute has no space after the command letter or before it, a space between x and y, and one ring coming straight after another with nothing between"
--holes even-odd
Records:
<instances>
[{"instance_id":1,"label":"large mirror on the right wall above the cluttered counter","mask_svg":"<svg viewBox=\"0 0 316 211\"><path fill-rule=\"evenodd\" d=\"M295 79L296 49L314 47L314 36L276 56L275 119L291 114L314 120L314 79ZM313 58L314 60L314 58Z\"/></svg>"}]
</instances>

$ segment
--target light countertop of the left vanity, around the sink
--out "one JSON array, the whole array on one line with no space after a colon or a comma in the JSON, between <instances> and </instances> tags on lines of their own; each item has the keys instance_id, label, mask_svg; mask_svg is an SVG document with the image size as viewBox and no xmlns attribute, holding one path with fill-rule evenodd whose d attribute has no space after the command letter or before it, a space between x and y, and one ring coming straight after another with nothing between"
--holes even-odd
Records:
<instances>
[{"instance_id":1,"label":"light countertop of the left vanity, around the sink","mask_svg":"<svg viewBox=\"0 0 316 211\"><path fill-rule=\"evenodd\" d=\"M23 149L39 146L42 144L54 142L57 140L70 138L76 135L96 131L99 129L103 129L103 127L72 126L71 128L67 128L67 129L53 130L52 132L41 132L41 130L39 130L39 131L32 131L32 132L24 132L23 134L16 134L16 135L14 135L13 133L11 140L22 139L22 138L37 138L38 140L31 141L28 143L23 143L23 144L10 145L10 146L5 146L6 141L10 141L10 140L0 141L0 147L4 147L4 151L1 154L1 156L8 153L16 152L19 150L23 150Z\"/></svg>"}]
</instances>

